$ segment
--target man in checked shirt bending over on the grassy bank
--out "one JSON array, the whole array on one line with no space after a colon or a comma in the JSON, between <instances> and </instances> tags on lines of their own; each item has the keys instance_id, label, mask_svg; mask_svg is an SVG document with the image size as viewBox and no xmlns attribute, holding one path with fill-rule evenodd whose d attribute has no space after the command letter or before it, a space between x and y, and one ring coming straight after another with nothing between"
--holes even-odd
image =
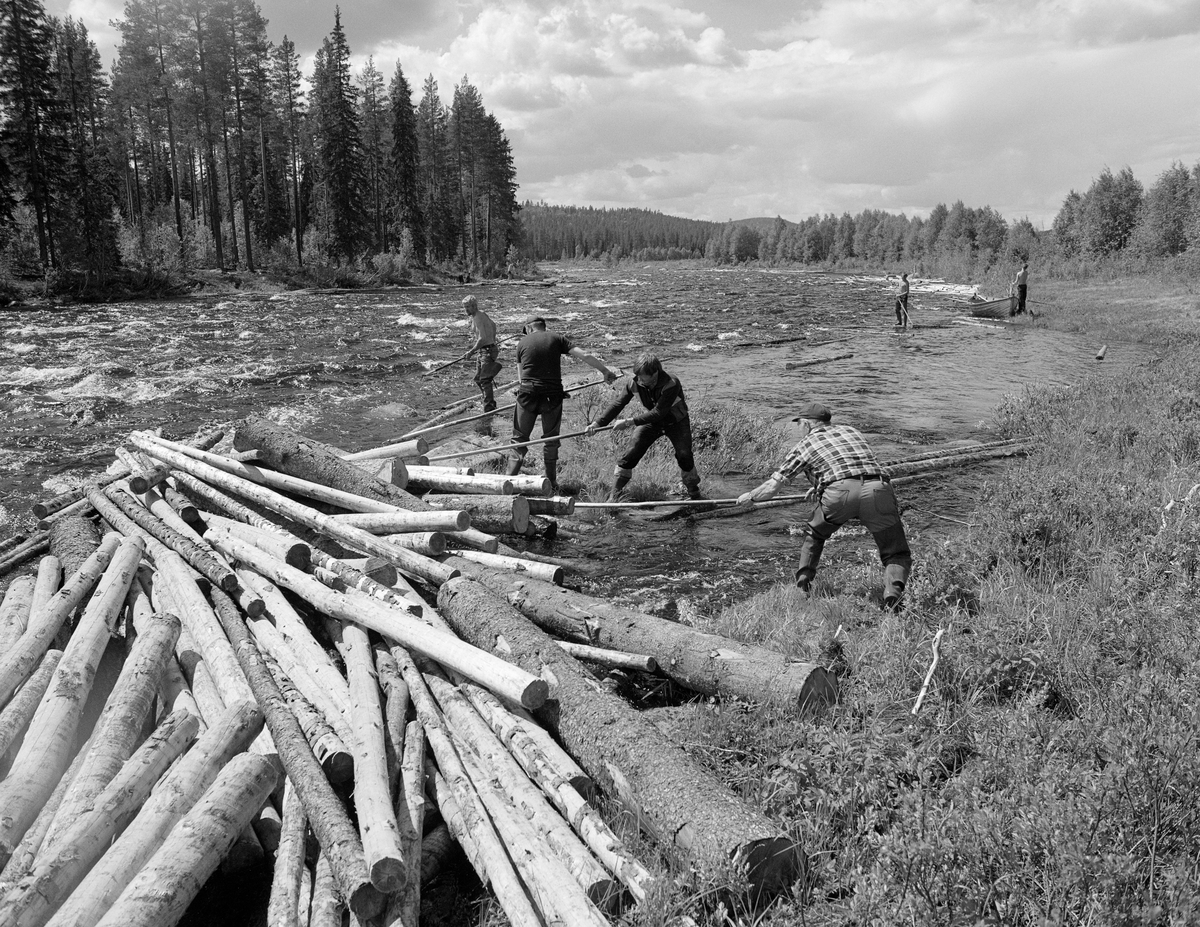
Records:
<instances>
[{"instance_id":1,"label":"man in checked shirt bending over on the grassy bank","mask_svg":"<svg viewBox=\"0 0 1200 927\"><path fill-rule=\"evenodd\" d=\"M900 521L890 477L880 466L866 438L850 425L830 424L833 415L820 402L803 402L793 421L800 439L770 477L738 497L739 504L763 502L797 473L812 484L817 507L804 527L796 585L808 592L817 573L826 542L851 519L858 519L875 537L883 561L883 608L900 608L912 554Z\"/></svg>"}]
</instances>

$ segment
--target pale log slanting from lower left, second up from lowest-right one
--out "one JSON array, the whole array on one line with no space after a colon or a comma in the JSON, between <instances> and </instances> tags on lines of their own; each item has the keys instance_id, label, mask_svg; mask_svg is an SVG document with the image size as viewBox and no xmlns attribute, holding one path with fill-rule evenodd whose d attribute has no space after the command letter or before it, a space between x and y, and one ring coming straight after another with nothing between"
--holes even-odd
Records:
<instances>
[{"instance_id":1,"label":"pale log slanting from lower left, second up from lowest-right one","mask_svg":"<svg viewBox=\"0 0 1200 927\"><path fill-rule=\"evenodd\" d=\"M92 867L50 920L54 927L95 927L217 772L263 729L252 702L230 706L157 784L133 823ZM125 926L127 927L127 925Z\"/></svg>"}]
</instances>

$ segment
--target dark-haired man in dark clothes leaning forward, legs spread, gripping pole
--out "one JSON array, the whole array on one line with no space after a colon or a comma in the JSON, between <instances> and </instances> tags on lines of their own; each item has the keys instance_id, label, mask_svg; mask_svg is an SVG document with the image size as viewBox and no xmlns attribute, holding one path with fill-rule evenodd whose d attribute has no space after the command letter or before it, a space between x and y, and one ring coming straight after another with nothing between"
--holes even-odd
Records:
<instances>
[{"instance_id":1,"label":"dark-haired man in dark clothes leaning forward, legs spread, gripping pole","mask_svg":"<svg viewBox=\"0 0 1200 927\"><path fill-rule=\"evenodd\" d=\"M637 412L625 418L617 418L620 411L637 396L644 412ZM616 419L616 421L613 421ZM634 478L636 467L650 445L664 435L674 448L676 464L683 474L683 488L688 498L704 498L700 491L700 472L691 450L691 418L688 415L688 403L683 397L683 384L662 369L662 361L654 354L642 354L634 366L634 375L625 387L618 390L617 399L595 420L588 424L588 433L613 423L613 431L634 429L632 441L624 453L617 457L613 470L611 502L616 502L629 480Z\"/></svg>"}]
</instances>

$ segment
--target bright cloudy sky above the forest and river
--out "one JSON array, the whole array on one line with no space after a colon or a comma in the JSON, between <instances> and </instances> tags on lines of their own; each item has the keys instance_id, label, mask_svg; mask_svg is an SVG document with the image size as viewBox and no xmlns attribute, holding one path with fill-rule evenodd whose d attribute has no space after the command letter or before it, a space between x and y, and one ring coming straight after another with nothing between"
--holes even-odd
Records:
<instances>
[{"instance_id":1,"label":"bright cloudy sky above the forest and river","mask_svg":"<svg viewBox=\"0 0 1200 927\"><path fill-rule=\"evenodd\" d=\"M311 70L334 0L259 0ZM115 56L122 0L46 0ZM522 201L726 221L961 199L1049 227L1200 161L1200 0L344 0L367 59L466 77ZM1190 77L1189 77L1190 74ZM414 97L414 102L416 102Z\"/></svg>"}]
</instances>

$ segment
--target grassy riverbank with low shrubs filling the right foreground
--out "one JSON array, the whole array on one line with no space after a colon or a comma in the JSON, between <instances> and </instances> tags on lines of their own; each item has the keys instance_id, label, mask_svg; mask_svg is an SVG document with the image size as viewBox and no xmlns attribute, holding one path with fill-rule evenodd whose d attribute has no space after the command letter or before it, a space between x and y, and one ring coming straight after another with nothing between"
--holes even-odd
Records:
<instances>
[{"instance_id":1,"label":"grassy riverbank with low shrubs filling the right foreground","mask_svg":"<svg viewBox=\"0 0 1200 927\"><path fill-rule=\"evenodd\" d=\"M776 586L710 620L835 666L826 717L696 704L659 719L810 854L796 897L743 923L1200 922L1196 298L1146 281L1034 292L1048 325L1163 351L997 409L1037 450L989 484L976 527L916 551L900 615L865 594L876 563L832 561L810 600ZM706 474L776 455L751 411L694 414ZM599 494L612 456L589 451L564 454L564 477ZM634 485L676 480L662 447ZM677 878L629 923L728 922Z\"/></svg>"}]
</instances>

